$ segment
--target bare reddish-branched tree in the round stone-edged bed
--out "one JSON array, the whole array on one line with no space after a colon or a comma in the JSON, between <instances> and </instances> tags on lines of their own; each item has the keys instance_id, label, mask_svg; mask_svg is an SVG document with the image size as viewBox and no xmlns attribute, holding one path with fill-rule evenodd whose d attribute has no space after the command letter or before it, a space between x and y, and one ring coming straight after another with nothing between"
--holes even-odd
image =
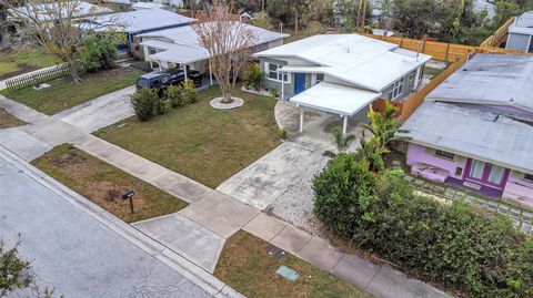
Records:
<instances>
[{"instance_id":1,"label":"bare reddish-branched tree in the round stone-edged bed","mask_svg":"<svg viewBox=\"0 0 533 298\"><path fill-rule=\"evenodd\" d=\"M210 17L192 28L200 44L209 52L211 71L219 82L223 103L231 103L239 72L250 58L251 47L257 39L254 32L239 17L231 13L230 4L215 1Z\"/></svg>"}]
</instances>

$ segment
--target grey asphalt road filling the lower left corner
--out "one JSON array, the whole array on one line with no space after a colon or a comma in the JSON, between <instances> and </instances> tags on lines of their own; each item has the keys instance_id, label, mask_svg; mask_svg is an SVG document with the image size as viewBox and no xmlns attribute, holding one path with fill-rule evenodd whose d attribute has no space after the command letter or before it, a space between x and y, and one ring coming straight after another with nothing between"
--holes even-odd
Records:
<instances>
[{"instance_id":1,"label":"grey asphalt road filling the lower left corner","mask_svg":"<svg viewBox=\"0 0 533 298\"><path fill-rule=\"evenodd\" d=\"M38 284L66 298L211 297L0 156L0 238L19 234Z\"/></svg>"}]
</instances>

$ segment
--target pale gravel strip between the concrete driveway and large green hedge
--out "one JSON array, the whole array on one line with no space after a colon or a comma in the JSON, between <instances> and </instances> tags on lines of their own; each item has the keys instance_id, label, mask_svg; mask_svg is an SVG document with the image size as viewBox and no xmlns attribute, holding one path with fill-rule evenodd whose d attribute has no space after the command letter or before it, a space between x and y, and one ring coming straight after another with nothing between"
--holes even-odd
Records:
<instances>
[{"instance_id":1,"label":"pale gravel strip between the concrete driveway and large green hedge","mask_svg":"<svg viewBox=\"0 0 533 298\"><path fill-rule=\"evenodd\" d=\"M312 181L313 176L326 165L329 160L329 157L324 156L315 168L290 185L286 191L266 208L268 212L309 233L322 236L320 227L316 224L318 219L313 215L314 195Z\"/></svg>"}]
</instances>

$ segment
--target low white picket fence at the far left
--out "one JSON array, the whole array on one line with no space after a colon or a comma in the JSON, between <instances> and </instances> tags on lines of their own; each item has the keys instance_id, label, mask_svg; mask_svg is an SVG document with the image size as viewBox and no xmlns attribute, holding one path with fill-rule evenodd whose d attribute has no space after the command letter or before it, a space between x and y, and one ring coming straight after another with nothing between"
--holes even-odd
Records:
<instances>
[{"instance_id":1,"label":"low white picket fence at the far left","mask_svg":"<svg viewBox=\"0 0 533 298\"><path fill-rule=\"evenodd\" d=\"M32 73L19 75L13 79L9 79L6 81L6 86L8 91L11 93L17 90L24 89L27 86L37 85L37 84L49 82L59 78L67 76L69 75L69 73L70 73L69 66L67 64L61 64L53 68L36 71Z\"/></svg>"}]
</instances>

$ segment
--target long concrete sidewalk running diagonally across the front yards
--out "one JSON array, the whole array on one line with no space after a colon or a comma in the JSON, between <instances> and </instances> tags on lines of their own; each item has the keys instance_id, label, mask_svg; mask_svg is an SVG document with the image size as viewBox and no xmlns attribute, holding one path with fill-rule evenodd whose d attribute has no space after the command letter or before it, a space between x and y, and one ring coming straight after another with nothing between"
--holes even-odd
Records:
<instances>
[{"instance_id":1,"label":"long concrete sidewalk running diagonally across the front yards","mask_svg":"<svg viewBox=\"0 0 533 298\"><path fill-rule=\"evenodd\" d=\"M20 130L32 137L50 146L66 142L72 143L89 154L191 203L187 208L178 213L179 216L175 217L175 220L182 220L182 217L187 217L193 223L215 233L222 239L231 237L240 229L248 230L270 242L272 245L279 246L318 267L329 270L340 278L350 280L360 288L379 297L449 297L441 290L419 280L408 278L390 267L378 266L358 256L342 254L328 245L324 239L312 236L285 222L270 217L255 207L84 133L70 124L34 112L1 96L0 106L6 107L14 116L31 123ZM147 233L152 238L169 245L170 248L173 245L180 245L179 243L170 243L170 240L179 237L174 234L177 230L164 229L169 223L168 217L152 218L150 223L151 233L150 229L145 229L145 232L148 230ZM154 229L154 226L159 226L159 228ZM207 243L204 244L207 245ZM194 246L191 247L194 250ZM180 251L180 249L178 247L175 251ZM211 261L211 264L203 263L202 267L204 269L214 269L213 260Z\"/></svg>"}]
</instances>

